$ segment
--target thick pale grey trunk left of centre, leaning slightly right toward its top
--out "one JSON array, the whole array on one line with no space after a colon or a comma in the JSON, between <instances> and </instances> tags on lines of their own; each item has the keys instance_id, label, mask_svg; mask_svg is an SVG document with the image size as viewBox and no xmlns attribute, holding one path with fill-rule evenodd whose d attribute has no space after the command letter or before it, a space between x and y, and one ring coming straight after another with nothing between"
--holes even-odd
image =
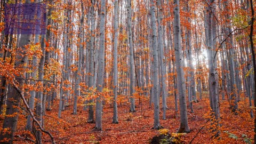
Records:
<instances>
[{"instance_id":1,"label":"thick pale grey trunk left of centre, leaning slightly right toward its top","mask_svg":"<svg viewBox=\"0 0 256 144\"><path fill-rule=\"evenodd\" d=\"M105 19L106 19L106 1L101 0L100 6L100 50L99 50L99 68L97 77L97 90L102 92L104 78L104 60L105 60ZM102 97L98 95L96 99L96 124L95 130L102 130Z\"/></svg>"}]
</instances>

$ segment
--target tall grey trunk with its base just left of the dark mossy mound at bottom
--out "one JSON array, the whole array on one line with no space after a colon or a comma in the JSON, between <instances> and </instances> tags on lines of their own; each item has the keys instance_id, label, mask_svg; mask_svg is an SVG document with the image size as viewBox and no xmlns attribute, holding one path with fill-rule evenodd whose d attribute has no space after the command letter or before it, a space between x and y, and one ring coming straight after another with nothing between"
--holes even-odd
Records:
<instances>
[{"instance_id":1,"label":"tall grey trunk with its base just left of the dark mossy mound at bottom","mask_svg":"<svg viewBox=\"0 0 256 144\"><path fill-rule=\"evenodd\" d=\"M158 47L157 47L157 29L156 29L156 14L155 14L155 3L153 0L150 1L150 14L152 24L152 39L153 39L153 102L154 102L154 129L160 129L159 121L159 97L158 97Z\"/></svg>"}]
</instances>

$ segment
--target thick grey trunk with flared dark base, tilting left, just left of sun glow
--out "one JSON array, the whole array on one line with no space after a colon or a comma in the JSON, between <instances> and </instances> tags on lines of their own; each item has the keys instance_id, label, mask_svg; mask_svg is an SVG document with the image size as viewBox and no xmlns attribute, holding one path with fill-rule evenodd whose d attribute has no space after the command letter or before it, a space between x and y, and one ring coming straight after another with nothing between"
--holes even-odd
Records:
<instances>
[{"instance_id":1,"label":"thick grey trunk with flared dark base, tilting left, just left of sun glow","mask_svg":"<svg viewBox=\"0 0 256 144\"><path fill-rule=\"evenodd\" d=\"M179 92L179 106L180 106L180 127L178 133L189 132L187 104L186 104L186 89L185 77L183 70L183 59L181 52L181 33L180 33L180 1L174 0L174 49L175 49L175 63L177 68L177 87Z\"/></svg>"}]
</instances>

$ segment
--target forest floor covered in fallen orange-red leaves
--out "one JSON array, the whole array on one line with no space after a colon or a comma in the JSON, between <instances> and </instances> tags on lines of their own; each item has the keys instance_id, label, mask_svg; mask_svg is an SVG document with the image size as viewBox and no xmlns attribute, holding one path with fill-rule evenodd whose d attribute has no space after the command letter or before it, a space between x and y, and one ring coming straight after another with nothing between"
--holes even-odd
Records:
<instances>
[{"instance_id":1,"label":"forest floor covered in fallen orange-red leaves","mask_svg":"<svg viewBox=\"0 0 256 144\"><path fill-rule=\"evenodd\" d=\"M247 98L246 98L247 99ZM138 102L138 101L137 101ZM150 108L148 100L143 100L137 106L135 113L129 112L129 103L118 106L118 124L112 124L113 108L106 104L103 108L102 125L103 131L93 131L94 123L87 123L88 112L78 106L78 114L73 115L73 106L70 105L62 111L62 118L58 118L58 101L54 101L52 110L46 112L45 129L53 135L56 143L149 143L158 130L151 129L154 122L154 107ZM183 135L183 143L246 143L246 140L253 139L253 119L250 117L249 102L241 98L239 102L238 115L229 109L227 100L220 101L220 137L213 138L210 126L210 104L207 94L203 99L194 105L194 112L188 109L188 123L190 133ZM167 98L168 110L166 120L161 125L169 133L174 133L179 128L179 116L175 114L174 98ZM1 124L3 121L0 121ZM30 132L25 131L26 118L19 116L18 130L15 133L14 143L32 143L23 138L35 139ZM214 124L212 124L214 125ZM50 137L43 133L43 143L51 143Z\"/></svg>"}]
</instances>

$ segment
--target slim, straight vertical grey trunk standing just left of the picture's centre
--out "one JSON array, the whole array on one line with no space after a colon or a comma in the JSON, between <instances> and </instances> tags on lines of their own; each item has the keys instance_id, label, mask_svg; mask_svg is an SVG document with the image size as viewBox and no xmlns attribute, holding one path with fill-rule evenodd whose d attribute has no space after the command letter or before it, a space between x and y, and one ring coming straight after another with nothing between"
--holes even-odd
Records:
<instances>
[{"instance_id":1,"label":"slim, straight vertical grey trunk standing just left of the picture's centre","mask_svg":"<svg viewBox=\"0 0 256 144\"><path fill-rule=\"evenodd\" d=\"M114 2L114 115L113 123L118 123L117 118L117 88L118 88L118 69L117 69L117 45L118 45L118 0Z\"/></svg>"}]
</instances>

